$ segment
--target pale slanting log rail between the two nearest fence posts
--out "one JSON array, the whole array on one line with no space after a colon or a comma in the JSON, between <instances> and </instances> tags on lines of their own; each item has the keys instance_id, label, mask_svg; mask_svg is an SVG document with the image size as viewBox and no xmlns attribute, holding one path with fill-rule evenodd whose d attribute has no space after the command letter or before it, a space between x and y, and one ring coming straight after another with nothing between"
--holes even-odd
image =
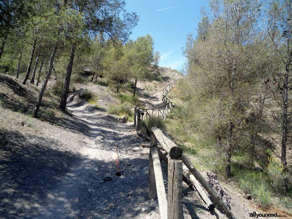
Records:
<instances>
[{"instance_id":1,"label":"pale slanting log rail between the two nearest fence posts","mask_svg":"<svg viewBox=\"0 0 292 219\"><path fill-rule=\"evenodd\" d=\"M167 214L168 214L167 213L167 209L168 209L167 199L166 199L160 160L158 156L158 149L151 148L151 154L152 154L153 169L154 169L154 175L155 175L155 184L156 184L156 191L157 191L157 197L158 197L160 218L167 219Z\"/></svg>"}]
</instances>

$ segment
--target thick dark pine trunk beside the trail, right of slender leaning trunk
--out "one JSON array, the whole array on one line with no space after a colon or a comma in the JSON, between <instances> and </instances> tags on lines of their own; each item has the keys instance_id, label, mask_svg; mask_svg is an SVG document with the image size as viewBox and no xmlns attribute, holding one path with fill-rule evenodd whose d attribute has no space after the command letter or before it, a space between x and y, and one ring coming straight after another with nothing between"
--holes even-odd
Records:
<instances>
[{"instance_id":1,"label":"thick dark pine trunk beside the trail, right of slender leaning trunk","mask_svg":"<svg viewBox=\"0 0 292 219\"><path fill-rule=\"evenodd\" d=\"M69 91L72 67L73 67L73 62L74 62L74 55L75 55L75 46L71 48L70 60L69 60L68 68L67 68L66 78L65 78L63 92L62 92L60 106L59 106L59 109L61 109L63 112L65 112L66 110L66 103L67 103L67 98L68 98L68 91Z\"/></svg>"}]
</instances>

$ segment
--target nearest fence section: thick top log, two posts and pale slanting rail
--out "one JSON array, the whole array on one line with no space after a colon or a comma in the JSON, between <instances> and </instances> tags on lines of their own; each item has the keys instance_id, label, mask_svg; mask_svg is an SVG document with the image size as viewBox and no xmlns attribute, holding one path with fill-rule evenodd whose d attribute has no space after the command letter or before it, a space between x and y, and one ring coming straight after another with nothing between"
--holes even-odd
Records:
<instances>
[{"instance_id":1,"label":"nearest fence section: thick top log, two posts and pale slanting rail","mask_svg":"<svg viewBox=\"0 0 292 219\"><path fill-rule=\"evenodd\" d=\"M162 145L170 158L168 160L168 198L164 187L162 169L159 160L158 142ZM160 151L161 152L161 151ZM161 219L182 218L182 149L170 141L160 129L151 129L149 150L149 200L158 197Z\"/></svg>"}]
</instances>

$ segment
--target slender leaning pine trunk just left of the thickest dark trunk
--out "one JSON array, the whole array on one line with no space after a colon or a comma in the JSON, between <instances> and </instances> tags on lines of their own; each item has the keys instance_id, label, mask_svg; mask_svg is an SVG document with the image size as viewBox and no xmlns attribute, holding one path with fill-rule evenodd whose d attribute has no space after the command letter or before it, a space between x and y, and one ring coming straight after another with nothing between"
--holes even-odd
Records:
<instances>
[{"instance_id":1,"label":"slender leaning pine trunk just left of the thickest dark trunk","mask_svg":"<svg viewBox=\"0 0 292 219\"><path fill-rule=\"evenodd\" d=\"M34 106L33 112L31 113L34 118L36 118L37 113L39 112L40 104L41 104L42 99L43 99L43 93L45 92L47 83L48 83L48 81L50 79L50 76L51 76L51 73L52 73L53 62L54 62L54 57L55 57L56 49L57 49L57 43L53 47L52 54L51 54L51 57L50 57L49 67L48 67L48 70L47 70L47 75L46 75L46 78L45 78L45 80L44 80L44 82L42 84L42 87L40 89L39 96L38 96L38 98L36 100L36 105Z\"/></svg>"}]
</instances>

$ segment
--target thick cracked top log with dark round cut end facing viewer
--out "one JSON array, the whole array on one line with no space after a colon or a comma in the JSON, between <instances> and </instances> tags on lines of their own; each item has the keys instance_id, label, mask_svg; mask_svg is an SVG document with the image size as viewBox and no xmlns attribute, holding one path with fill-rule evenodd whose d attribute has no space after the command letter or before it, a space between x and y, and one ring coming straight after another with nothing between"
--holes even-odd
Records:
<instances>
[{"instance_id":1,"label":"thick cracked top log with dark round cut end facing viewer","mask_svg":"<svg viewBox=\"0 0 292 219\"><path fill-rule=\"evenodd\" d=\"M152 127L151 131L162 145L163 149L169 154L172 159L179 159L182 156L182 149L174 142L169 140L160 129Z\"/></svg>"}]
</instances>

